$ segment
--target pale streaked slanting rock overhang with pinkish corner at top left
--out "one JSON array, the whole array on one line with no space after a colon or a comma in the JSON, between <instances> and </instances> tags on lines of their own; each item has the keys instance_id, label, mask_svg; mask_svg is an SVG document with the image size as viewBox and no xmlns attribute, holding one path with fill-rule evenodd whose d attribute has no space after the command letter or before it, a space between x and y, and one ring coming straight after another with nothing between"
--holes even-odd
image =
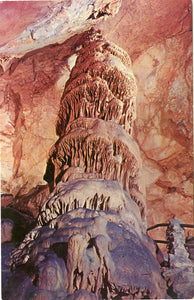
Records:
<instances>
[{"instance_id":1,"label":"pale streaked slanting rock overhang with pinkish corner at top left","mask_svg":"<svg viewBox=\"0 0 194 300\"><path fill-rule=\"evenodd\" d=\"M14 13L15 23L20 22L23 7L27 19L21 25L17 25L14 32L11 34L8 32L2 41L5 43L8 40L0 47L0 61L4 71L9 68L15 58L49 44L63 43L73 35L88 30L105 16L115 15L120 5L120 0L48 1L44 4L40 1L40 4L36 3L31 7L23 2L13 3L12 6L1 3L2 14L7 12L7 15L11 16ZM28 14L31 14L31 18L28 18ZM3 22L4 19L5 17L1 26L2 31L6 32L6 29L10 27L6 28L7 20ZM34 22L30 24L30 20ZM20 32L22 29L24 30Z\"/></svg>"}]
</instances>

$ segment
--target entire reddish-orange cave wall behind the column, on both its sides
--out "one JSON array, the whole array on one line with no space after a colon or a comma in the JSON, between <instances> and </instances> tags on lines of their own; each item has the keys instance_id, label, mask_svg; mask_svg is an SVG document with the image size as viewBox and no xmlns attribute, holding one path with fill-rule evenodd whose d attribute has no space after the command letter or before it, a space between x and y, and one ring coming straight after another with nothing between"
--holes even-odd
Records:
<instances>
[{"instance_id":1,"label":"entire reddish-orange cave wall behind the column, on both its sides","mask_svg":"<svg viewBox=\"0 0 194 300\"><path fill-rule=\"evenodd\" d=\"M21 22L21 28L10 26L16 28L16 36L52 7L52 1L47 8L38 3L33 9L17 3L15 23L21 10L27 21ZM5 11L8 14L10 7L1 10L3 36L8 31L7 27L3 31L8 22ZM191 9L187 0L124 0L118 14L99 19L96 25L132 59L138 87L133 136L143 158L148 226L173 215L193 220ZM8 62L5 50L0 51L4 62L0 80L3 193L21 196L46 184L43 176L49 149L57 140L60 99L82 39L82 32L74 32L62 44L30 48L31 52L19 55L13 51ZM10 40L13 30L2 47ZM162 236L160 230L158 234Z\"/></svg>"}]
</instances>

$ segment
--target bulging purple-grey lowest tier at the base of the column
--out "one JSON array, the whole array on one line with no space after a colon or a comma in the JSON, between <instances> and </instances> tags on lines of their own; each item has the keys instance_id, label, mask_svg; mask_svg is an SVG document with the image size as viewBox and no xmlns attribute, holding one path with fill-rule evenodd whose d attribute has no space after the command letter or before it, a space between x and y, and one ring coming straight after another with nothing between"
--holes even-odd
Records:
<instances>
[{"instance_id":1,"label":"bulging purple-grey lowest tier at the base of the column","mask_svg":"<svg viewBox=\"0 0 194 300\"><path fill-rule=\"evenodd\" d=\"M139 235L136 225L124 229L122 222L114 213L84 208L58 216L26 235L13 252L15 272L19 266L34 270L34 293L46 290L51 299L82 289L105 299L164 297L146 235Z\"/></svg>"}]
</instances>

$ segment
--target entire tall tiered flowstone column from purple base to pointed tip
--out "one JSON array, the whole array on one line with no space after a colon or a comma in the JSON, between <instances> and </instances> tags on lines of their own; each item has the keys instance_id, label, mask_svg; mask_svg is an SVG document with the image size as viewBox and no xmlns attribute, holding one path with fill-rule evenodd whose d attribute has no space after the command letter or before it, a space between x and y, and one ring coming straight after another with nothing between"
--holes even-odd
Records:
<instances>
[{"instance_id":1,"label":"entire tall tiered flowstone column from purple base to pointed tip","mask_svg":"<svg viewBox=\"0 0 194 300\"><path fill-rule=\"evenodd\" d=\"M127 53L88 32L61 99L45 173L52 193L13 252L7 298L165 297L146 234L135 99Z\"/></svg>"}]
</instances>

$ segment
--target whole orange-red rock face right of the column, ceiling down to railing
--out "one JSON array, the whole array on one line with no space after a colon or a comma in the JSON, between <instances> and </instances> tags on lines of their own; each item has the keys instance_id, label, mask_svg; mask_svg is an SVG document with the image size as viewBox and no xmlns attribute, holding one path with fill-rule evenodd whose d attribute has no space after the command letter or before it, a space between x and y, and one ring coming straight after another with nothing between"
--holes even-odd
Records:
<instances>
[{"instance_id":1,"label":"whole orange-red rock face right of the column, ceiling down to railing","mask_svg":"<svg viewBox=\"0 0 194 300\"><path fill-rule=\"evenodd\" d=\"M134 138L143 161L150 226L173 215L193 223L191 15L189 0L123 1L113 19L98 25L133 62ZM152 236L165 239L165 231L156 229Z\"/></svg>"}]
</instances>

